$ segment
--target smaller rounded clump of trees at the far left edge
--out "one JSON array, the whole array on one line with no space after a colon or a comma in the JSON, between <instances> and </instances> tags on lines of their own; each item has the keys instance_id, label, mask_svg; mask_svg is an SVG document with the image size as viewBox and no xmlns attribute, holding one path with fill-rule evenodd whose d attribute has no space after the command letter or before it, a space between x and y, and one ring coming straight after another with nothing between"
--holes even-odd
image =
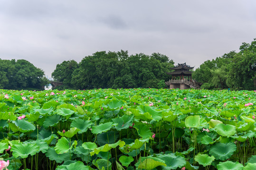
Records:
<instances>
[{"instance_id":1,"label":"smaller rounded clump of trees at the far left edge","mask_svg":"<svg viewBox=\"0 0 256 170\"><path fill-rule=\"evenodd\" d=\"M0 59L1 89L43 89L48 84L44 71L25 59Z\"/></svg>"}]
</instances>

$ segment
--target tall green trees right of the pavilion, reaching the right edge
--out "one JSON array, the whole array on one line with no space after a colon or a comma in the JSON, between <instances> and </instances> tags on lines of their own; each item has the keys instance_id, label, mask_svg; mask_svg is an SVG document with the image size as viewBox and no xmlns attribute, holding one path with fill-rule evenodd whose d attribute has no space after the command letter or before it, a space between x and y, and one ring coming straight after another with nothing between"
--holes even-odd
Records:
<instances>
[{"instance_id":1,"label":"tall green trees right of the pavilion, reaching the right edge","mask_svg":"<svg viewBox=\"0 0 256 170\"><path fill-rule=\"evenodd\" d=\"M255 90L256 39L250 44L243 42L239 50L205 61L192 77L205 89Z\"/></svg>"}]
</instances>

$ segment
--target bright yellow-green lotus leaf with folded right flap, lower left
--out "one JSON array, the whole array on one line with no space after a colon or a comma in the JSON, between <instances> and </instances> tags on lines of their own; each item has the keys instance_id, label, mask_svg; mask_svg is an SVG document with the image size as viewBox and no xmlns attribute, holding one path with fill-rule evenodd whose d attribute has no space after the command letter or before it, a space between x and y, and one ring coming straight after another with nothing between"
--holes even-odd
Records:
<instances>
[{"instance_id":1,"label":"bright yellow-green lotus leaf with folded right flap, lower left","mask_svg":"<svg viewBox=\"0 0 256 170\"><path fill-rule=\"evenodd\" d=\"M58 140L58 142L57 142L56 146L54 147L54 149L55 149L57 154L67 153L70 149L73 148L73 145L76 148L76 144L77 144L77 142L74 141L73 144L71 144L71 146L69 147L69 142L66 139L66 137L61 137Z\"/></svg>"}]
</instances>

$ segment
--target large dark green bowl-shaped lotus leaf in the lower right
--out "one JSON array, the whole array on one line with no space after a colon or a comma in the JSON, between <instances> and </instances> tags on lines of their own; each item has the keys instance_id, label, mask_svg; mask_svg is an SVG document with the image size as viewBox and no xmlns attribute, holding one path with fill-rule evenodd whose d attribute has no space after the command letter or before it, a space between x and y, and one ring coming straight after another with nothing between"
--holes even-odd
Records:
<instances>
[{"instance_id":1,"label":"large dark green bowl-shaped lotus leaf in the lower right","mask_svg":"<svg viewBox=\"0 0 256 170\"><path fill-rule=\"evenodd\" d=\"M230 143L215 143L210 147L209 153L217 160L224 161L232 156L237 150L237 145L233 142Z\"/></svg>"}]
</instances>

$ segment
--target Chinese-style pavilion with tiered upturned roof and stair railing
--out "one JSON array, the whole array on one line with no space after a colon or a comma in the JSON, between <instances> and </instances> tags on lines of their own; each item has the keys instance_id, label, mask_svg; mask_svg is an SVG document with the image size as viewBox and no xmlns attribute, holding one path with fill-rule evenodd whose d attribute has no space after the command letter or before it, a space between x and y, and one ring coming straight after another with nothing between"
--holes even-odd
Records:
<instances>
[{"instance_id":1,"label":"Chinese-style pavilion with tiered upturned roof and stair railing","mask_svg":"<svg viewBox=\"0 0 256 170\"><path fill-rule=\"evenodd\" d=\"M192 80L192 71L194 67L190 67L186 63L179 64L174 68L173 72L168 72L166 74L171 75L171 80L165 82L166 85L170 85L170 89L179 88L179 89L189 89L189 88L199 88L200 86Z\"/></svg>"}]
</instances>

